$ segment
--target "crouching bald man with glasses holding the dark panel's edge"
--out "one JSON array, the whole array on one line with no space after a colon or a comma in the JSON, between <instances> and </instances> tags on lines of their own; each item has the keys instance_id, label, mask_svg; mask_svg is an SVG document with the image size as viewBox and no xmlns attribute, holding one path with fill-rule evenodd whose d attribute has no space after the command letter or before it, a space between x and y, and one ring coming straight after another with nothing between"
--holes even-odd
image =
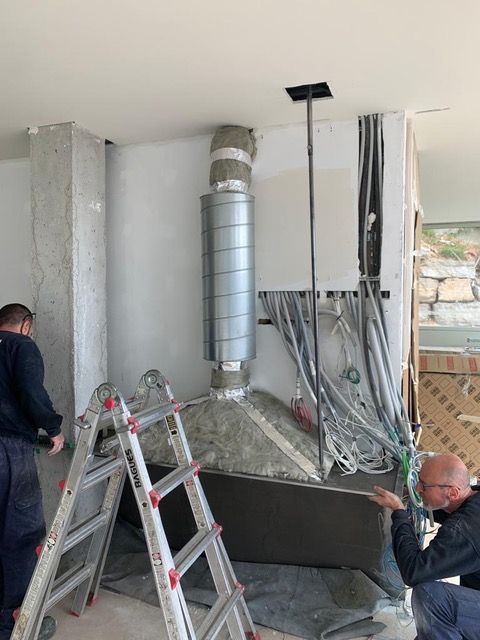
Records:
<instances>
[{"instance_id":1,"label":"crouching bald man with glasses holding the dark panel's edge","mask_svg":"<svg viewBox=\"0 0 480 640\"><path fill-rule=\"evenodd\" d=\"M418 640L480 638L480 491L470 487L458 456L436 455L422 465L417 492L440 522L437 535L421 549L400 498L374 487L369 500L392 509L392 541L405 584L413 587ZM460 576L460 585L436 582Z\"/></svg>"}]
</instances>

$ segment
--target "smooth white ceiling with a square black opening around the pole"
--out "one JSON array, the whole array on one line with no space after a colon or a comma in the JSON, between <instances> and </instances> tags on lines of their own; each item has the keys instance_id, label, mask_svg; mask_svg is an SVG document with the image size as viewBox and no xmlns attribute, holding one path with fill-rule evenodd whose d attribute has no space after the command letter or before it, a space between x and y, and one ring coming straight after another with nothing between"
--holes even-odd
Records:
<instances>
[{"instance_id":1,"label":"smooth white ceiling with a square black opening around the pole","mask_svg":"<svg viewBox=\"0 0 480 640\"><path fill-rule=\"evenodd\" d=\"M75 120L118 143L405 109L427 216L476 219L478 0L0 0L0 159ZM415 115L417 111L448 111Z\"/></svg>"}]
</instances>

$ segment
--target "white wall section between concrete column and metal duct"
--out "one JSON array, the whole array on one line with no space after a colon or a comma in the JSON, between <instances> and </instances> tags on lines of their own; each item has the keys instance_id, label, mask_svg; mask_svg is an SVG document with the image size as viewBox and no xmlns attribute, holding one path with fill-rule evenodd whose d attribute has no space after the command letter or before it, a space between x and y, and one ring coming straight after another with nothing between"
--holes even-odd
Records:
<instances>
[{"instance_id":1,"label":"white wall section between concrete column and metal duct","mask_svg":"<svg viewBox=\"0 0 480 640\"><path fill-rule=\"evenodd\" d=\"M125 393L149 368L165 373L179 398L209 388L199 201L209 152L210 136L108 149L108 362Z\"/></svg>"}]
</instances>

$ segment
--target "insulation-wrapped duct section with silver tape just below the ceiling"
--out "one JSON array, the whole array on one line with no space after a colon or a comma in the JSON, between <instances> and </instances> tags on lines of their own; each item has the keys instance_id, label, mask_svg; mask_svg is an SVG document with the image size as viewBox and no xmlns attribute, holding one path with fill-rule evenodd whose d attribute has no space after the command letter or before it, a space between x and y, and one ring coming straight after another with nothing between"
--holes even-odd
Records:
<instances>
[{"instance_id":1,"label":"insulation-wrapped duct section with silver tape just below the ceiling","mask_svg":"<svg viewBox=\"0 0 480 640\"><path fill-rule=\"evenodd\" d=\"M245 127L220 127L210 145L212 191L247 193L256 154L255 138Z\"/></svg>"}]
</instances>

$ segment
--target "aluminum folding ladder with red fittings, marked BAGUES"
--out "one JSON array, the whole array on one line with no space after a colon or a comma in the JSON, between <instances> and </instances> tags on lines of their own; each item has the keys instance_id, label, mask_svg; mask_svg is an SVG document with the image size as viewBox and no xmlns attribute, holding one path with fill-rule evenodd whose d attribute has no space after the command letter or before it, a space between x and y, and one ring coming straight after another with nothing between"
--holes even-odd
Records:
<instances>
[{"instance_id":1,"label":"aluminum folding ladder with red fittings, marked BAGUES","mask_svg":"<svg viewBox=\"0 0 480 640\"><path fill-rule=\"evenodd\" d=\"M151 392L157 403L146 408ZM40 553L35 572L20 609L11 640L36 640L43 617L67 594L75 591L72 613L81 615L94 602L118 510L121 489L128 474L143 523L156 591L169 640L213 640L220 631L232 640L258 640L259 634L236 580L221 539L222 528L210 511L198 477L199 464L192 459L180 419L181 405L170 385L157 370L142 376L133 399L125 402L110 383L93 393L85 415L77 419L80 435L60 505ZM178 467L152 485L138 435L163 420ZM115 435L103 440L94 460L98 433L113 425ZM81 492L108 479L98 513L78 524L72 518ZM173 557L165 536L159 504L176 487L183 486L195 519L197 533ZM90 537L83 562L57 576L62 555ZM205 554L217 599L195 629L182 590L181 578Z\"/></svg>"}]
</instances>

